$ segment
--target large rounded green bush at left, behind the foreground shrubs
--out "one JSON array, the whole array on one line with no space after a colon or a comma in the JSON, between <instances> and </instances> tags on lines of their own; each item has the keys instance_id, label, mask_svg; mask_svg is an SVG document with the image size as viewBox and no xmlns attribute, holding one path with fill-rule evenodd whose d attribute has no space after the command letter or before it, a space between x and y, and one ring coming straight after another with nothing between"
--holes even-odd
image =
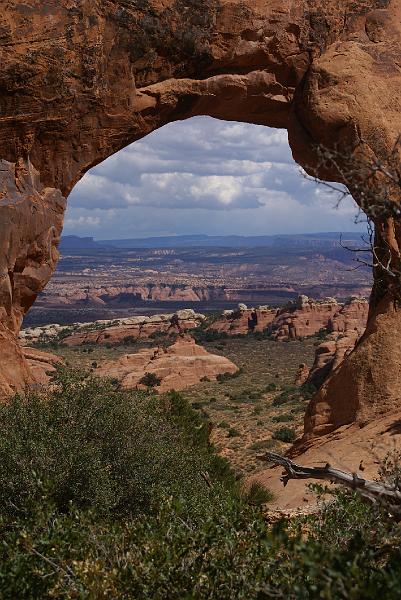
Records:
<instances>
[{"instance_id":1,"label":"large rounded green bush at left, behind the foreground shrubs","mask_svg":"<svg viewBox=\"0 0 401 600\"><path fill-rule=\"evenodd\" d=\"M209 494L200 473L211 468L199 422L181 397L167 410L148 393L61 373L53 393L0 405L1 510L24 514L43 494L63 513L133 515L166 494L192 498L195 510Z\"/></svg>"}]
</instances>

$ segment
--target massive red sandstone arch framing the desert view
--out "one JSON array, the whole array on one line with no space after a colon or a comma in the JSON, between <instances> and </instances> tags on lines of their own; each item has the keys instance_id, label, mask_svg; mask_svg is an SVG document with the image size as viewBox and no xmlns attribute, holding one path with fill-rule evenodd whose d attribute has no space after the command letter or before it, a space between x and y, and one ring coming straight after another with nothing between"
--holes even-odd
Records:
<instances>
[{"instance_id":1,"label":"massive red sandstone arch framing the desert view","mask_svg":"<svg viewBox=\"0 0 401 600\"><path fill-rule=\"evenodd\" d=\"M285 127L304 166L314 144L348 151L362 137L383 157L401 132L400 17L401 0L5 0L0 391L31 381L15 335L90 167L199 114ZM400 225L377 232L398 260ZM312 403L306 439L397 405L401 317L385 290L378 300L364 341Z\"/></svg>"}]
</instances>

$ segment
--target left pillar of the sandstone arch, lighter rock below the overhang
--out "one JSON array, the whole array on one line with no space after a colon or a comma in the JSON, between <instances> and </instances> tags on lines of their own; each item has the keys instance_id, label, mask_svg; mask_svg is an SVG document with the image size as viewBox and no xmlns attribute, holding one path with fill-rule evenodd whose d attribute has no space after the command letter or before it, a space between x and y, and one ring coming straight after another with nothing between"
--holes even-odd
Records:
<instances>
[{"instance_id":1,"label":"left pillar of the sandstone arch, lighter rock below the overhang","mask_svg":"<svg viewBox=\"0 0 401 600\"><path fill-rule=\"evenodd\" d=\"M56 267L64 208L32 164L0 159L0 396L33 382L15 335Z\"/></svg>"}]
</instances>

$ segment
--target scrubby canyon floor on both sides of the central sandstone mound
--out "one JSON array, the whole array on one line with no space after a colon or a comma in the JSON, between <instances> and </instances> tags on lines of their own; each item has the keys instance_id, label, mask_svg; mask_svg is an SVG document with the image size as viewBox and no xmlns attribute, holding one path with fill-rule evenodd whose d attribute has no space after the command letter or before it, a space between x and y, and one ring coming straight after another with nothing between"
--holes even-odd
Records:
<instances>
[{"instance_id":1,"label":"scrubby canyon floor on both sides of the central sandstone mound","mask_svg":"<svg viewBox=\"0 0 401 600\"><path fill-rule=\"evenodd\" d=\"M275 342L255 335L202 341L207 351L228 358L240 372L220 381L202 381L181 394L211 424L211 440L238 474L262 471L265 465L257 458L261 452L285 451L302 433L309 396L294 381L300 363L312 365L319 343L318 337ZM154 340L137 340L109 347L50 344L41 348L61 356L73 369L90 371L104 361L154 346Z\"/></svg>"}]
</instances>

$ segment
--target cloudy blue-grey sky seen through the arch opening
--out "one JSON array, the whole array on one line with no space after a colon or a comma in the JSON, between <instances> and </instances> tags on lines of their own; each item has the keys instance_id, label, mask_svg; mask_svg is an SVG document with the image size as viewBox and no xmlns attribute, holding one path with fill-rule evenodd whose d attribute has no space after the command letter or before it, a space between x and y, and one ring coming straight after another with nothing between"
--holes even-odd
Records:
<instances>
[{"instance_id":1,"label":"cloudy blue-grey sky seen through the arch opening","mask_svg":"<svg viewBox=\"0 0 401 600\"><path fill-rule=\"evenodd\" d=\"M208 117L171 123L92 169L69 199L64 234L269 235L353 231L352 201L335 208L302 177L287 133Z\"/></svg>"}]
</instances>

